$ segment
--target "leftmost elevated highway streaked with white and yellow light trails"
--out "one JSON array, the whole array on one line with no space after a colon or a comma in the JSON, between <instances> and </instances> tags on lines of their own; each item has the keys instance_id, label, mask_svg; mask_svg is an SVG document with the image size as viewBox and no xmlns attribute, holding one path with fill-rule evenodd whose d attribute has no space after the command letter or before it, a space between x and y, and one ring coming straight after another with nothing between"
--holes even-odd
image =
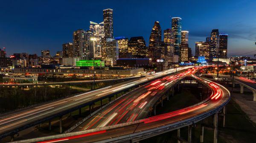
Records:
<instances>
[{"instance_id":1,"label":"leftmost elevated highway streaked with white and yellow light trails","mask_svg":"<svg viewBox=\"0 0 256 143\"><path fill-rule=\"evenodd\" d=\"M177 68L177 71L188 68L191 67L180 67ZM93 90L58 101L52 101L46 104L2 114L0 115L0 138L11 135L12 133L16 133L22 129L26 129L30 126L34 126L38 123L50 120L54 117L65 115L68 112L74 111L86 105L93 104L95 101L99 101L108 97L109 95L114 95L121 91L128 90L131 87L138 86L153 79L157 79L175 72L176 69L165 70L163 72L148 75L140 79L125 81L120 84Z\"/></svg>"}]
</instances>

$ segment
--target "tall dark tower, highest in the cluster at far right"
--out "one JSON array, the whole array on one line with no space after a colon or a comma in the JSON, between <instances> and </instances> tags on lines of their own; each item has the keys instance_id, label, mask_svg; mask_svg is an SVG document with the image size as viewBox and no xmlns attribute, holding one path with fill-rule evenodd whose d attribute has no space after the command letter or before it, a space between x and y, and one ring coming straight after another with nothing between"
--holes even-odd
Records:
<instances>
[{"instance_id":1,"label":"tall dark tower, highest in the cluster at far right","mask_svg":"<svg viewBox=\"0 0 256 143\"><path fill-rule=\"evenodd\" d=\"M210 44L210 59L218 56L219 32L218 29L212 29Z\"/></svg>"}]
</instances>

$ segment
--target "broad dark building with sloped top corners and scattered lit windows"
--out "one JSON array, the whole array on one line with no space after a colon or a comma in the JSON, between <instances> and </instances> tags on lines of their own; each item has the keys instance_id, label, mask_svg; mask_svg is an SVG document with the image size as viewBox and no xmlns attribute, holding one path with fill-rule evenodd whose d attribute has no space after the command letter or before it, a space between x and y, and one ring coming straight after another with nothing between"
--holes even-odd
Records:
<instances>
[{"instance_id":1,"label":"broad dark building with sloped top corners and scattered lit windows","mask_svg":"<svg viewBox=\"0 0 256 143\"><path fill-rule=\"evenodd\" d=\"M132 53L133 58L145 58L148 56L148 49L142 36L130 38L128 42L128 53Z\"/></svg>"}]
</instances>

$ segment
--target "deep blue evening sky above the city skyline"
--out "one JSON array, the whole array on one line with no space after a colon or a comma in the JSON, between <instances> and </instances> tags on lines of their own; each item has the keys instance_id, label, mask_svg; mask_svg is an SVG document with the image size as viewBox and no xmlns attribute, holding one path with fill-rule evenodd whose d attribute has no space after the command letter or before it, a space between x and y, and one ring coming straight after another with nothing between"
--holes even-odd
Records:
<instances>
[{"instance_id":1,"label":"deep blue evening sky above the city skyline","mask_svg":"<svg viewBox=\"0 0 256 143\"><path fill-rule=\"evenodd\" d=\"M0 0L0 48L8 56L42 49L54 55L72 42L73 31L102 22L105 8L113 9L115 37L143 36L148 45L154 21L163 33L171 17L181 17L193 55L195 41L215 28L229 34L229 55L256 50L256 0Z\"/></svg>"}]
</instances>

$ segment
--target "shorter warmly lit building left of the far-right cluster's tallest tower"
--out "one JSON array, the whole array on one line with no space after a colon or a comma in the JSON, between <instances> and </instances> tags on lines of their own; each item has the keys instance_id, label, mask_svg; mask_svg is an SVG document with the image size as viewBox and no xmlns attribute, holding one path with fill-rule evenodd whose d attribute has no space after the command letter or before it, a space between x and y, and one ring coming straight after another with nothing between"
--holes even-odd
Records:
<instances>
[{"instance_id":1,"label":"shorter warmly lit building left of the far-right cluster's tallest tower","mask_svg":"<svg viewBox=\"0 0 256 143\"><path fill-rule=\"evenodd\" d=\"M205 56L205 59L210 57L211 42L195 42L195 56Z\"/></svg>"}]
</instances>

